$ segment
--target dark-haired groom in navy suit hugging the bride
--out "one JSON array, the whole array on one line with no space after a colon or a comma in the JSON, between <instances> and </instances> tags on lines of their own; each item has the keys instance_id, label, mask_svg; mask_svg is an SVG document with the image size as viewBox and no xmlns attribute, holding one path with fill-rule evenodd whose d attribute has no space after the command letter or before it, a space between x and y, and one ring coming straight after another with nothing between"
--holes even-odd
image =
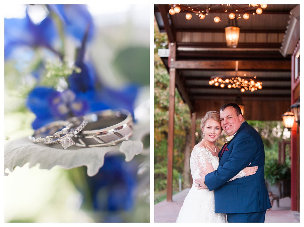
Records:
<instances>
[{"instance_id":1,"label":"dark-haired groom in navy suit hugging the bride","mask_svg":"<svg viewBox=\"0 0 304 227\"><path fill-rule=\"evenodd\" d=\"M264 222L271 204L264 180L263 141L236 103L224 104L219 116L230 139L219 152L217 170L206 176L200 173L202 178L195 183L198 189L214 190L215 212L226 213L228 222ZM229 181L250 162L250 166L258 166L255 174Z\"/></svg>"}]
</instances>

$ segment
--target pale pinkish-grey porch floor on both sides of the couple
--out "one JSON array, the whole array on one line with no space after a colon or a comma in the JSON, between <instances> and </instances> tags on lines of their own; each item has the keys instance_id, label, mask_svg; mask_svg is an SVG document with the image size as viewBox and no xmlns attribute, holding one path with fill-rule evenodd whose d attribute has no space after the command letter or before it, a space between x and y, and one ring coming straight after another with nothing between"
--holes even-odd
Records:
<instances>
[{"instance_id":1,"label":"pale pinkish-grey porch floor on both sides of the couple","mask_svg":"<svg viewBox=\"0 0 304 227\"><path fill-rule=\"evenodd\" d=\"M173 195L173 202L162 201L154 205L154 222L175 222L184 199L190 189ZM265 222L299 222L299 212L290 210L290 198L280 199L280 207L274 202L271 210L266 211Z\"/></svg>"}]
</instances>

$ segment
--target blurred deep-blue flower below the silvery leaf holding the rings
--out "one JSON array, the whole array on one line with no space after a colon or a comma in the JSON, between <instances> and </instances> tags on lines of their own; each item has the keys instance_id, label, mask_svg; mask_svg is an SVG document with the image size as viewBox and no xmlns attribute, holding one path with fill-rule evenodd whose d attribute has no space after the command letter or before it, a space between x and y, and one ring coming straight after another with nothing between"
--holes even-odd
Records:
<instances>
[{"instance_id":1,"label":"blurred deep-blue flower below the silvery leaf holding the rings","mask_svg":"<svg viewBox=\"0 0 304 227\"><path fill-rule=\"evenodd\" d=\"M93 208L99 211L128 211L133 208L137 179L136 161L126 162L123 156L105 157L94 177L87 177L92 189Z\"/></svg>"}]
</instances>

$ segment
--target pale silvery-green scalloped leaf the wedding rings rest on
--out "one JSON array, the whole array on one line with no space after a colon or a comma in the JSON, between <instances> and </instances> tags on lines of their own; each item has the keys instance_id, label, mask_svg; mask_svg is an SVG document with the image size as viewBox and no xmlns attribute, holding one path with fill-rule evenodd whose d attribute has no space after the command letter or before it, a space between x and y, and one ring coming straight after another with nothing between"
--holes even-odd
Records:
<instances>
[{"instance_id":1,"label":"pale silvery-green scalloped leaf the wedding rings rest on","mask_svg":"<svg viewBox=\"0 0 304 227\"><path fill-rule=\"evenodd\" d=\"M143 130L143 128L146 129ZM149 127L146 124L135 124L131 138L140 140L140 135L147 134L147 128ZM120 146L122 146L121 149L119 149ZM103 166L106 153L119 153L120 151L126 155L126 161L131 161L134 155L139 154L142 150L142 143L132 140L109 147L79 148L73 146L64 150L60 144L49 147L44 144L34 144L28 138L22 138L5 145L4 170L8 168L12 172L16 166L22 167L29 162L29 168L39 163L40 169L48 170L56 165L64 169L87 166L88 176L94 176Z\"/></svg>"}]
</instances>

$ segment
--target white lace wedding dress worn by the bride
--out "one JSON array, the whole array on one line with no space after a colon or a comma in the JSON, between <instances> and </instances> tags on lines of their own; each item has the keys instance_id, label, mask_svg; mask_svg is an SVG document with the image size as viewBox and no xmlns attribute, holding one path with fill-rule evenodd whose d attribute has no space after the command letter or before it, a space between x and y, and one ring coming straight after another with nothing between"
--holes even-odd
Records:
<instances>
[{"instance_id":1,"label":"white lace wedding dress worn by the bride","mask_svg":"<svg viewBox=\"0 0 304 227\"><path fill-rule=\"evenodd\" d=\"M190 157L190 168L193 184L186 196L176 222L226 222L226 214L214 213L214 191L208 188L197 189L194 179L200 178L199 172L204 174L216 170L219 158L212 155L205 147L194 147ZM242 170L231 180L244 177ZM230 181L231 181L230 180Z\"/></svg>"}]
</instances>

